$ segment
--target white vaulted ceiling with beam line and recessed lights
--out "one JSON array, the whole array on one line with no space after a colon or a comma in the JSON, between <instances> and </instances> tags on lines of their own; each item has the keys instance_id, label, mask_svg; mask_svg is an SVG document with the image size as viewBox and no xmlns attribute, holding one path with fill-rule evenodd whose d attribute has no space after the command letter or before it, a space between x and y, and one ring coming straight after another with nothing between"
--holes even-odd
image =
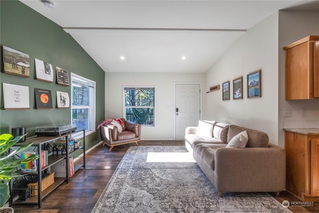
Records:
<instances>
[{"instance_id":1,"label":"white vaulted ceiling with beam line and recessed lights","mask_svg":"<svg viewBox=\"0 0 319 213\"><path fill-rule=\"evenodd\" d=\"M314 2L52 0L55 7L47 8L20 1L62 26L105 72L206 72L253 25Z\"/></svg>"}]
</instances>

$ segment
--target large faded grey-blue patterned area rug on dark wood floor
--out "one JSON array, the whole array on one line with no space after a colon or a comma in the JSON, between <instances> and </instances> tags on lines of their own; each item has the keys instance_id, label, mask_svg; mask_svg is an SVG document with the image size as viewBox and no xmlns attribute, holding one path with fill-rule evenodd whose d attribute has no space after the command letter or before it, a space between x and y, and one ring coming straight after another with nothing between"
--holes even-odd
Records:
<instances>
[{"instance_id":1,"label":"large faded grey-blue patterned area rug on dark wood floor","mask_svg":"<svg viewBox=\"0 0 319 213\"><path fill-rule=\"evenodd\" d=\"M131 146L92 213L288 213L267 193L218 193L183 146Z\"/></svg>"}]
</instances>

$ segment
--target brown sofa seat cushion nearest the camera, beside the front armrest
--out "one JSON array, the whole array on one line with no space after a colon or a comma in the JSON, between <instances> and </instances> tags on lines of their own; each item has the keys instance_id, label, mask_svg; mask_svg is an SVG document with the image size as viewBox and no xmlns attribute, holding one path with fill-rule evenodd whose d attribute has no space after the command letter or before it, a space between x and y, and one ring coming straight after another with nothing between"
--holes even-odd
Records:
<instances>
[{"instance_id":1,"label":"brown sofa seat cushion nearest the camera, beside the front armrest","mask_svg":"<svg viewBox=\"0 0 319 213\"><path fill-rule=\"evenodd\" d=\"M226 144L197 144L194 146L194 151L203 162L212 170L215 169L215 152L219 148L224 148Z\"/></svg>"}]
</instances>

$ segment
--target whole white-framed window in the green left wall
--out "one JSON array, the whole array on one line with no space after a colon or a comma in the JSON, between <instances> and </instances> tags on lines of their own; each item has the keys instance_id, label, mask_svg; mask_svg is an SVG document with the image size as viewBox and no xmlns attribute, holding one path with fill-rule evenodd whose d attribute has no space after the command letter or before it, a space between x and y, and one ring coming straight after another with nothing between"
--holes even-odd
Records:
<instances>
[{"instance_id":1,"label":"whole white-framed window in the green left wall","mask_svg":"<svg viewBox=\"0 0 319 213\"><path fill-rule=\"evenodd\" d=\"M71 119L77 129L95 131L95 82L71 73Z\"/></svg>"}]
</instances>

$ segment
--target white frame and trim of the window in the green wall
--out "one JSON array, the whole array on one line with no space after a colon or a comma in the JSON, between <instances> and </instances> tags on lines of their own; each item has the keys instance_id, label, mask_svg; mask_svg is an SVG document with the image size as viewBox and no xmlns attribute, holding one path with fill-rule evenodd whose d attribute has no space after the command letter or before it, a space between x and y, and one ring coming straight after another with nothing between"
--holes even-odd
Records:
<instances>
[{"instance_id":1,"label":"white frame and trim of the window in the green wall","mask_svg":"<svg viewBox=\"0 0 319 213\"><path fill-rule=\"evenodd\" d=\"M73 105L72 105L72 103L73 103L73 89L72 89L73 78L78 78L80 80L83 80L83 81L89 83L89 85L87 85L90 88L89 89L89 106L75 106L75 107L73 107ZM92 95L92 92L94 92L93 95ZM93 106L91 106L91 104L93 104ZM70 113L71 114L71 121L73 121L72 110L79 109L79 108L90 109L89 110L89 130L85 130L85 135L89 135L89 134L96 132L96 82L71 72L71 113ZM91 120L91 118L93 120ZM79 135L82 135L82 132L74 133L74 134L72 134L72 137L77 137Z\"/></svg>"}]
</instances>

